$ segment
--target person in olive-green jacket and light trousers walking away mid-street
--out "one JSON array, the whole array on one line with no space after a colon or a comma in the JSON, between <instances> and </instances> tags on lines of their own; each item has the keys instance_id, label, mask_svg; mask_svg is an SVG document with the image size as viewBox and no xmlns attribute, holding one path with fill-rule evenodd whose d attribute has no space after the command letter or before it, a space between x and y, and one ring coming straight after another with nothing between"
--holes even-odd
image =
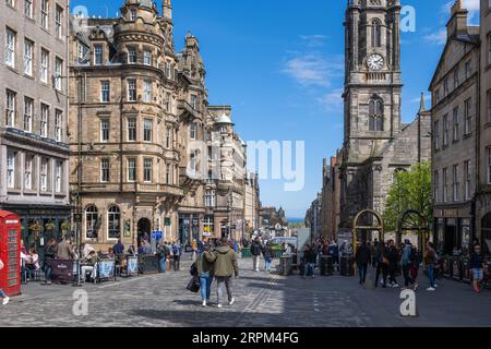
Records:
<instances>
[{"instance_id":1,"label":"person in olive-green jacket and light trousers walking away mid-street","mask_svg":"<svg viewBox=\"0 0 491 349\"><path fill-rule=\"evenodd\" d=\"M232 276L239 276L239 264L237 262L236 252L230 249L226 238L221 239L220 245L213 252L205 252L206 260L209 263L215 263L215 277L217 281L217 298L218 308L221 308L220 299L224 293L224 284L227 289L228 304L232 305L236 299L232 294Z\"/></svg>"}]
</instances>

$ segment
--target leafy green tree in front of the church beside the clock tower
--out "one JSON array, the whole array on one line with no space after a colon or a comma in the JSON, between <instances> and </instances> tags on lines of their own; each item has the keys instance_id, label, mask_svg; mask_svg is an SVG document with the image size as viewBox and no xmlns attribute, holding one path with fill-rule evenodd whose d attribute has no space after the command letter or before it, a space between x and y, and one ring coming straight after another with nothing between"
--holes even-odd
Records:
<instances>
[{"instance_id":1,"label":"leafy green tree in front of the church beside the clock tower","mask_svg":"<svg viewBox=\"0 0 491 349\"><path fill-rule=\"evenodd\" d=\"M400 216L408 209L419 210L428 221L433 220L430 163L416 164L409 171L394 173L385 204L385 229L395 231Z\"/></svg>"}]
</instances>

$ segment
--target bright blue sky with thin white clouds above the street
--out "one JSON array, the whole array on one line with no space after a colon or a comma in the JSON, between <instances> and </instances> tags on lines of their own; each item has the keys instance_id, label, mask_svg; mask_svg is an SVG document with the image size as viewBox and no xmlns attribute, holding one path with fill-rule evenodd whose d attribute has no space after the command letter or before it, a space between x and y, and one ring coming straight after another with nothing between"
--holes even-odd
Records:
<instances>
[{"instance_id":1,"label":"bright blue sky with thin white clouds above the street","mask_svg":"<svg viewBox=\"0 0 491 349\"><path fill-rule=\"evenodd\" d=\"M444 47L451 0L403 0L416 10L416 31L402 33L403 122L414 120ZM123 0L72 0L88 14L115 16ZM211 105L230 105L246 141L303 141L304 185L261 180L264 206L304 217L322 190L323 158L343 145L344 17L346 0L173 0L175 43L200 40ZM157 2L160 9L160 2ZM478 22L479 0L464 0ZM252 168L251 168L252 169Z\"/></svg>"}]
</instances>

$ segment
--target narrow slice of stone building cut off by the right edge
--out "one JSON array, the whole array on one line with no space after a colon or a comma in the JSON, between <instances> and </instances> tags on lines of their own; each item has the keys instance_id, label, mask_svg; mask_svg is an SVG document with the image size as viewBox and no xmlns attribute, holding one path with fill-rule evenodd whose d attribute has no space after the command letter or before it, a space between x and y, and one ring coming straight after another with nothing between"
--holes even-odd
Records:
<instances>
[{"instance_id":1,"label":"narrow slice of stone building cut off by the right edge","mask_svg":"<svg viewBox=\"0 0 491 349\"><path fill-rule=\"evenodd\" d=\"M479 183L476 201L476 231L491 253L491 2L481 0L480 9L480 91L479 91ZM486 242L486 243L484 243Z\"/></svg>"}]
</instances>

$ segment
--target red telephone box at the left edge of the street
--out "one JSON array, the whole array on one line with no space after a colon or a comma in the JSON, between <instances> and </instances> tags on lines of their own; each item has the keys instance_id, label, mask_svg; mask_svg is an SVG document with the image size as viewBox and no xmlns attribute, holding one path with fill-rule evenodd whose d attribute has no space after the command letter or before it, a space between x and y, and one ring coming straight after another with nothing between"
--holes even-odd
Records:
<instances>
[{"instance_id":1,"label":"red telephone box at the left edge of the street","mask_svg":"<svg viewBox=\"0 0 491 349\"><path fill-rule=\"evenodd\" d=\"M7 296L21 294L21 218L0 210L0 288Z\"/></svg>"}]
</instances>

